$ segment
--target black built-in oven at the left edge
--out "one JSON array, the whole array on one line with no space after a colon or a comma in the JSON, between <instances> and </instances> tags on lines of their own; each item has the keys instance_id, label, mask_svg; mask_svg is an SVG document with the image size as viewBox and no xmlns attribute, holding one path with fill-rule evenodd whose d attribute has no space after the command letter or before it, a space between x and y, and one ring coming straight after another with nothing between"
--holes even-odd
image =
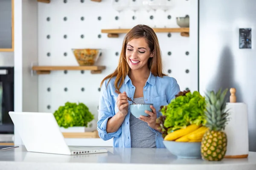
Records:
<instances>
[{"instance_id":1,"label":"black built-in oven at the left edge","mask_svg":"<svg viewBox=\"0 0 256 170\"><path fill-rule=\"evenodd\" d=\"M14 134L9 111L14 111L14 68L0 67L0 134Z\"/></svg>"}]
</instances>

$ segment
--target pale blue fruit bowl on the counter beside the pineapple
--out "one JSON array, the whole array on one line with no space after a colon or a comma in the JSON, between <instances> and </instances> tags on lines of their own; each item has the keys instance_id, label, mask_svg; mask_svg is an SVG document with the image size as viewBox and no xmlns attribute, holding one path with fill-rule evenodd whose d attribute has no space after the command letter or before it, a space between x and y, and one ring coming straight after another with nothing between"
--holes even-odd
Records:
<instances>
[{"instance_id":1,"label":"pale blue fruit bowl on the counter beside the pineapple","mask_svg":"<svg viewBox=\"0 0 256 170\"><path fill-rule=\"evenodd\" d=\"M178 158L201 159L201 142L163 141L163 144Z\"/></svg>"}]
</instances>

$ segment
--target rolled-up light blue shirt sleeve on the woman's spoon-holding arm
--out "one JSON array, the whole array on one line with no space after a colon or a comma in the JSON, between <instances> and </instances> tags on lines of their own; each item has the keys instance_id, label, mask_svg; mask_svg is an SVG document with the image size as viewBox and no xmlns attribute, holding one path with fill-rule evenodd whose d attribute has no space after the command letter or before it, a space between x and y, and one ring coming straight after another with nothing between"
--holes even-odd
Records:
<instances>
[{"instance_id":1,"label":"rolled-up light blue shirt sleeve on the woman's spoon-holding arm","mask_svg":"<svg viewBox=\"0 0 256 170\"><path fill-rule=\"evenodd\" d=\"M108 133L107 132L107 123L108 119L112 118L115 113L113 113L114 105L111 105L109 101L110 95L110 88L106 88L107 81L102 84L100 97L99 97L99 115L98 115L98 122L97 122L97 130L99 133L99 137L103 140L109 140L113 137L118 137L122 133L122 127L120 127L116 132ZM109 84L110 85L110 84ZM109 90L108 90L109 89Z\"/></svg>"}]
</instances>

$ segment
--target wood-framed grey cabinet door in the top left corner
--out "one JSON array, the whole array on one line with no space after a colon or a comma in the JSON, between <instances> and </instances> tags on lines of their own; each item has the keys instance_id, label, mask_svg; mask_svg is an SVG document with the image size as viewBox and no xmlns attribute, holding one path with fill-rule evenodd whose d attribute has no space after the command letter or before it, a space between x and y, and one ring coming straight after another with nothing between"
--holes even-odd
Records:
<instances>
[{"instance_id":1,"label":"wood-framed grey cabinet door in the top left corner","mask_svg":"<svg viewBox=\"0 0 256 170\"><path fill-rule=\"evenodd\" d=\"M0 51L14 51L14 0L0 0Z\"/></svg>"}]
</instances>

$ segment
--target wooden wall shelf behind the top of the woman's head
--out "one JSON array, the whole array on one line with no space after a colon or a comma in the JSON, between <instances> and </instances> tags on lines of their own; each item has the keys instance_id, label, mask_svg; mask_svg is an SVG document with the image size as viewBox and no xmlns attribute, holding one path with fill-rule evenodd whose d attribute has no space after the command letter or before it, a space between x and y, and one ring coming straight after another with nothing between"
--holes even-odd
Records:
<instances>
[{"instance_id":1,"label":"wooden wall shelf behind the top of the woman's head","mask_svg":"<svg viewBox=\"0 0 256 170\"><path fill-rule=\"evenodd\" d=\"M102 29L102 33L108 33L108 37L116 38L119 34L128 33L131 29ZM180 32L183 37L189 37L189 28L153 28L155 32Z\"/></svg>"}]
</instances>

